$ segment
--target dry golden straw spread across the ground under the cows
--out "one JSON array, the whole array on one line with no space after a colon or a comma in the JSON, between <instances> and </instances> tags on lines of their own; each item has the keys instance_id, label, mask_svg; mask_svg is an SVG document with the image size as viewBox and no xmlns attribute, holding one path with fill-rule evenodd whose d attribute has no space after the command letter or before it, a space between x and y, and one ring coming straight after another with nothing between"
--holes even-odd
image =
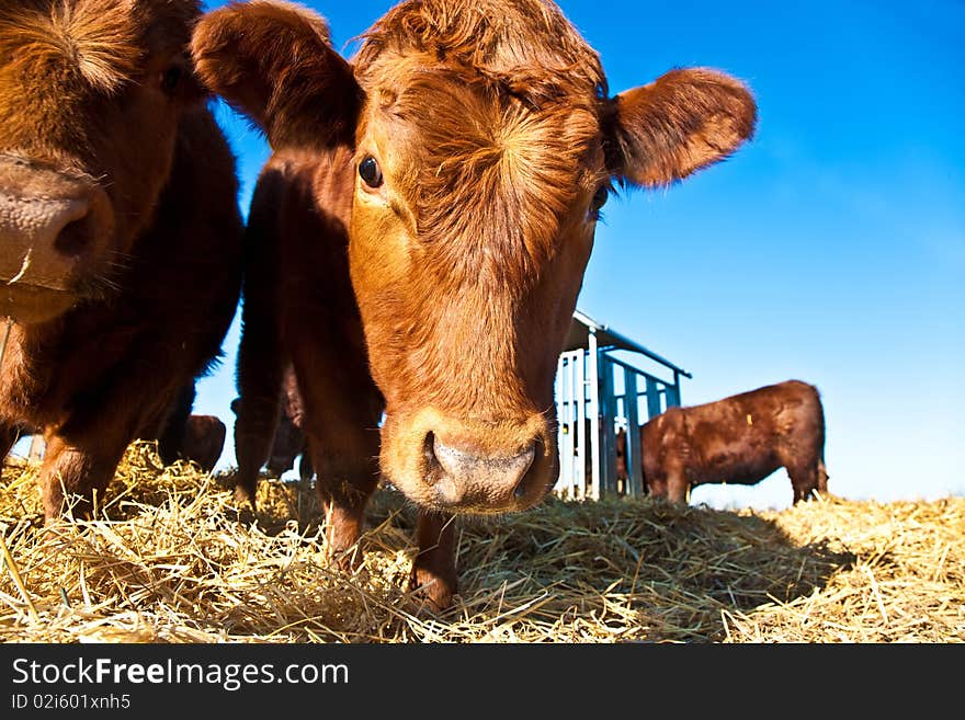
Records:
<instances>
[{"instance_id":1,"label":"dry golden straw spread across the ground under the cows","mask_svg":"<svg viewBox=\"0 0 965 720\"><path fill-rule=\"evenodd\" d=\"M314 491L132 446L96 519L47 532L36 467L2 476L7 642L963 642L965 498L781 512L550 500L459 529L462 595L405 592L413 512L382 490L363 567L325 559Z\"/></svg>"}]
</instances>

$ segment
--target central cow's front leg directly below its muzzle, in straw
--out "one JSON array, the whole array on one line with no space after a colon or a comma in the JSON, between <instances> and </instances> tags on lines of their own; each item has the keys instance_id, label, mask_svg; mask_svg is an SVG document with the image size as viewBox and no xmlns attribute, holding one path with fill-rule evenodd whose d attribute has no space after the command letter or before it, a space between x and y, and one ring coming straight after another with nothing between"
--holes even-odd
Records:
<instances>
[{"instance_id":1,"label":"central cow's front leg directly below its muzzle, in straw","mask_svg":"<svg viewBox=\"0 0 965 720\"><path fill-rule=\"evenodd\" d=\"M412 562L409 590L418 590L435 609L449 607L458 590L455 524L449 514L419 515L419 552Z\"/></svg>"}]
</instances>

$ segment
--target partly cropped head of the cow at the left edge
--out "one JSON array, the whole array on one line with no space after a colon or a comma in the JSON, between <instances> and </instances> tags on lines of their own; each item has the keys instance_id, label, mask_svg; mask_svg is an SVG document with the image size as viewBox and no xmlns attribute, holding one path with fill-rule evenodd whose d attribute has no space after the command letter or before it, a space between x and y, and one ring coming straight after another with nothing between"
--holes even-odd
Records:
<instances>
[{"instance_id":1,"label":"partly cropped head of the cow at the left edge","mask_svg":"<svg viewBox=\"0 0 965 720\"><path fill-rule=\"evenodd\" d=\"M0 315L101 297L151 219L178 117L203 95L196 0L0 3Z\"/></svg>"}]
</instances>

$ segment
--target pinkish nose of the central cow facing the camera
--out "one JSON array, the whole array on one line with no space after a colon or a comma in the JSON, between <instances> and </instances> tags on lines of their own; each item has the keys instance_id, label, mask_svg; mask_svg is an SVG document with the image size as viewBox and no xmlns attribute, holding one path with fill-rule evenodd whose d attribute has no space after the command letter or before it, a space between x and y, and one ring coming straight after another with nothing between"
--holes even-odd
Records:
<instances>
[{"instance_id":1,"label":"pinkish nose of the central cow facing the camera","mask_svg":"<svg viewBox=\"0 0 965 720\"><path fill-rule=\"evenodd\" d=\"M514 510L530 491L529 476L536 443L511 454L478 454L443 443L429 433L424 445L436 501L441 507L466 512Z\"/></svg>"}]
</instances>

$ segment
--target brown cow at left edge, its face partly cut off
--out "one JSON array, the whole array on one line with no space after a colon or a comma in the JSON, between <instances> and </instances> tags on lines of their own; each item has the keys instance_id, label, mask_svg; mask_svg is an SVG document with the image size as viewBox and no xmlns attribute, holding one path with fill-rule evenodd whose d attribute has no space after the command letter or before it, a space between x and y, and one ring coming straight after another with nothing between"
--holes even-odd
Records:
<instances>
[{"instance_id":1,"label":"brown cow at left edge, its face partly cut off","mask_svg":"<svg viewBox=\"0 0 965 720\"><path fill-rule=\"evenodd\" d=\"M162 433L237 306L235 160L186 53L200 14L0 4L0 455L43 428L48 522L65 490L87 514L129 442Z\"/></svg>"}]
</instances>

